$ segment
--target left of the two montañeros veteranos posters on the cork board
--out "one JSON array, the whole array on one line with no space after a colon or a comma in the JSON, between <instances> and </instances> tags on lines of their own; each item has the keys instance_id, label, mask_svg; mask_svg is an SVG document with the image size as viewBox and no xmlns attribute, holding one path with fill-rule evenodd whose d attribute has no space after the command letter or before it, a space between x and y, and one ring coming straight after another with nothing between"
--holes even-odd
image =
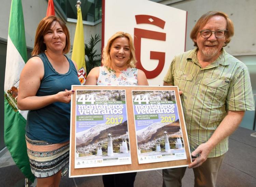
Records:
<instances>
[{"instance_id":1,"label":"left of the two monta\u00f1eros veteranos posters on the cork board","mask_svg":"<svg viewBox=\"0 0 256 187\"><path fill-rule=\"evenodd\" d=\"M125 90L76 90L75 168L131 164Z\"/></svg>"}]
</instances>

